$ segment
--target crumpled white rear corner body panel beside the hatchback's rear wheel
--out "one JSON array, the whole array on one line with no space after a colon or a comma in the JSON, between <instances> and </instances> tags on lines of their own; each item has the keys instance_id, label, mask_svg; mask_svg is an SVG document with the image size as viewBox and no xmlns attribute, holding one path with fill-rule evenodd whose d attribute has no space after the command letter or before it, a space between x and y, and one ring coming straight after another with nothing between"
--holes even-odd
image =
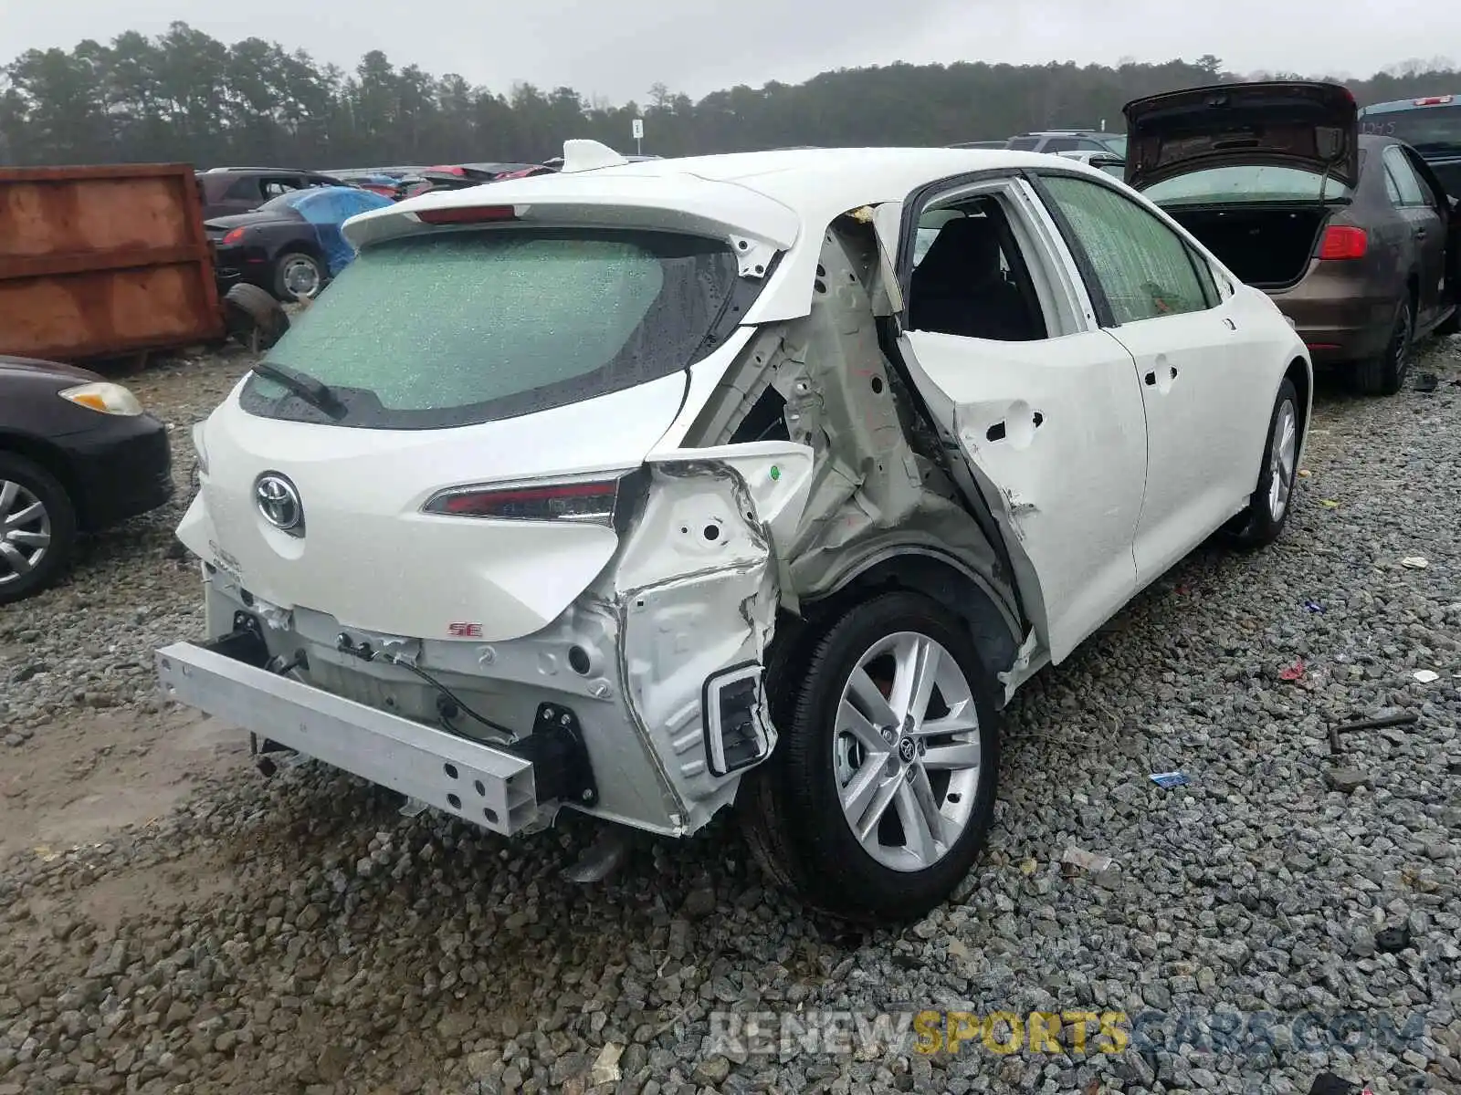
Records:
<instances>
[{"instance_id":1,"label":"crumpled white rear corner body panel beside the hatchback's rear wheel","mask_svg":"<svg viewBox=\"0 0 1461 1095\"><path fill-rule=\"evenodd\" d=\"M764 658L779 604L776 543L801 518L812 451L751 442L647 463L649 492L612 568L612 599L630 710L691 832L738 784L738 774L716 777L707 764L706 679ZM760 708L774 748L764 694Z\"/></svg>"}]
</instances>

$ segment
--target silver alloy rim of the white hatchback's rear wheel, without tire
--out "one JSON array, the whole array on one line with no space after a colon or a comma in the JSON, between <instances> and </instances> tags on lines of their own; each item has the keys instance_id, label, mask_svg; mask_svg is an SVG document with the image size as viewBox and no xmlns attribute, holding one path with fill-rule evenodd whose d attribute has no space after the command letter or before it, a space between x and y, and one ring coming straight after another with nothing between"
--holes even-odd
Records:
<instances>
[{"instance_id":1,"label":"silver alloy rim of the white hatchback's rear wheel, without tire","mask_svg":"<svg viewBox=\"0 0 1461 1095\"><path fill-rule=\"evenodd\" d=\"M925 870L969 825L982 769L979 714L958 661L913 631L863 653L842 691L833 772L862 848L893 870Z\"/></svg>"}]
</instances>

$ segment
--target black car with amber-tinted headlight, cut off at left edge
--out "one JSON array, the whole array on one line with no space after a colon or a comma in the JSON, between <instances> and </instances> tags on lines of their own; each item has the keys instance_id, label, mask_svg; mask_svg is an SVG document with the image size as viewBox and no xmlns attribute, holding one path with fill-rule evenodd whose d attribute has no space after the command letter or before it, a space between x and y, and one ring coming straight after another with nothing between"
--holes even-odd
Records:
<instances>
[{"instance_id":1,"label":"black car with amber-tinted headlight, cut off at left edge","mask_svg":"<svg viewBox=\"0 0 1461 1095\"><path fill-rule=\"evenodd\" d=\"M0 356L0 604L58 578L77 533L172 498L167 428L86 369Z\"/></svg>"}]
</instances>

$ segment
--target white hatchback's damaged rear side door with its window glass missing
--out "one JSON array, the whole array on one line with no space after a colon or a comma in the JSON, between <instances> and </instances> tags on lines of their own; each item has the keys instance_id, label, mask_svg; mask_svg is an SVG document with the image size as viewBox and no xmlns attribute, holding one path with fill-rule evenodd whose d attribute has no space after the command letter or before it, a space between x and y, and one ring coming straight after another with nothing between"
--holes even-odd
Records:
<instances>
[{"instance_id":1,"label":"white hatchback's damaged rear side door with its window glass missing","mask_svg":"<svg viewBox=\"0 0 1461 1095\"><path fill-rule=\"evenodd\" d=\"M995 201L1005 219L999 264L1039 302L1039 337L912 326L931 314L919 308L915 250L934 261L947 207L977 201ZM1026 613L1059 663L1135 591L1147 444L1131 355L1094 326L1069 253L1029 184L945 180L915 191L906 210L900 239L881 239L900 257L903 361L944 445L963 454L955 479L998 524Z\"/></svg>"}]
</instances>

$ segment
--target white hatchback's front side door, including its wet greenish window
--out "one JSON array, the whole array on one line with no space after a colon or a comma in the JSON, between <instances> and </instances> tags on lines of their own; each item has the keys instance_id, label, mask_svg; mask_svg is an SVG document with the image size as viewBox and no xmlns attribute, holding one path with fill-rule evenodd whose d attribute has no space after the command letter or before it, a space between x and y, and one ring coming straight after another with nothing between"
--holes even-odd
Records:
<instances>
[{"instance_id":1,"label":"white hatchback's front side door, including its wet greenish window","mask_svg":"<svg viewBox=\"0 0 1461 1095\"><path fill-rule=\"evenodd\" d=\"M1039 178L1102 327L1135 362L1148 467L1135 561L1145 585L1254 491L1274 399L1264 328L1249 330L1245 298L1220 288L1201 253L1150 207L1096 178Z\"/></svg>"}]
</instances>

